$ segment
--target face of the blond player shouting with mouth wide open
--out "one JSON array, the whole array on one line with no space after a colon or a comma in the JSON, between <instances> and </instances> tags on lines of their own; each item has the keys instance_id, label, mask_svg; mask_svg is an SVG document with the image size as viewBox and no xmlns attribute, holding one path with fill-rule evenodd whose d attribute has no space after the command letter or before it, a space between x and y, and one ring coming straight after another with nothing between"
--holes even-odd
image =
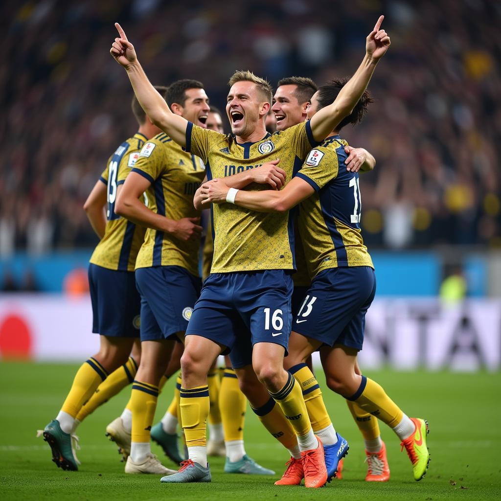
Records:
<instances>
[{"instance_id":1,"label":"face of the blond player shouting with mouth wide open","mask_svg":"<svg viewBox=\"0 0 501 501\"><path fill-rule=\"evenodd\" d=\"M254 82L236 82L229 90L226 113L231 125L231 132L235 136L249 136L256 130L256 126L263 112L263 96Z\"/></svg>"}]
</instances>

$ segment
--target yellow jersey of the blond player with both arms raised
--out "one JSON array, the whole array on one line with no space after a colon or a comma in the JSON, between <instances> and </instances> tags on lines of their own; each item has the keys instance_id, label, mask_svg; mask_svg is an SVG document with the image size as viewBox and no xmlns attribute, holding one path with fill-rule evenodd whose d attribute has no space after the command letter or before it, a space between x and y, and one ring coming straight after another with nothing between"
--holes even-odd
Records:
<instances>
[{"instance_id":1,"label":"yellow jersey of the blond player with both arms raised","mask_svg":"<svg viewBox=\"0 0 501 501\"><path fill-rule=\"evenodd\" d=\"M310 122L267 134L256 143L243 144L231 135L202 129L191 122L186 127L186 151L206 163L209 180L259 168L267 161L280 158L280 167L290 181L316 144ZM256 184L248 189L257 191L268 187ZM222 203L212 205L211 215L214 237L211 273L295 268L293 217L289 212L256 212Z\"/></svg>"}]
</instances>

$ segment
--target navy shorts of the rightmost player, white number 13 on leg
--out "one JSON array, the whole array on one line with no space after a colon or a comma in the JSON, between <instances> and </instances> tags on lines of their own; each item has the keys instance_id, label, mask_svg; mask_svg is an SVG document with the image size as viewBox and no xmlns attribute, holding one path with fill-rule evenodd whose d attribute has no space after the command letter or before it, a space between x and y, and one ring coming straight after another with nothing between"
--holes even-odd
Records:
<instances>
[{"instance_id":1,"label":"navy shorts of the rightmost player, white number 13 on leg","mask_svg":"<svg viewBox=\"0 0 501 501\"><path fill-rule=\"evenodd\" d=\"M376 275L369 266L323 270L313 279L292 330L324 345L361 350L365 314L375 294Z\"/></svg>"}]
</instances>

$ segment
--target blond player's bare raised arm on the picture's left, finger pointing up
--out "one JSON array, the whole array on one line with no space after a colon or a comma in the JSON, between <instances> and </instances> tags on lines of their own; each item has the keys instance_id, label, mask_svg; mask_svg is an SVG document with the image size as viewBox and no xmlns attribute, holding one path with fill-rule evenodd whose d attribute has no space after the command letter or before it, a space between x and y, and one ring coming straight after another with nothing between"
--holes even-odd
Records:
<instances>
[{"instance_id":1,"label":"blond player's bare raised arm on the picture's left, finger pointing up","mask_svg":"<svg viewBox=\"0 0 501 501\"><path fill-rule=\"evenodd\" d=\"M151 85L137 59L134 46L127 40L122 27L115 23L120 35L113 42L110 54L125 68L137 100L151 122L162 129L180 146L186 146L186 126L188 121L170 111L162 96Z\"/></svg>"}]
</instances>

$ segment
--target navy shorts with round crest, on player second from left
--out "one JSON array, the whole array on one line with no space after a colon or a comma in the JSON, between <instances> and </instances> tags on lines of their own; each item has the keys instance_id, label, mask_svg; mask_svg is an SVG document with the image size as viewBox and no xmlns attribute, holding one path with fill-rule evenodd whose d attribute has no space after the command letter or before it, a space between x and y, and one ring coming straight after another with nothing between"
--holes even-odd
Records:
<instances>
[{"instance_id":1,"label":"navy shorts with round crest, on player second from left","mask_svg":"<svg viewBox=\"0 0 501 501\"><path fill-rule=\"evenodd\" d=\"M136 270L141 295L141 341L177 340L188 327L201 281L181 266L153 266Z\"/></svg>"}]
</instances>

